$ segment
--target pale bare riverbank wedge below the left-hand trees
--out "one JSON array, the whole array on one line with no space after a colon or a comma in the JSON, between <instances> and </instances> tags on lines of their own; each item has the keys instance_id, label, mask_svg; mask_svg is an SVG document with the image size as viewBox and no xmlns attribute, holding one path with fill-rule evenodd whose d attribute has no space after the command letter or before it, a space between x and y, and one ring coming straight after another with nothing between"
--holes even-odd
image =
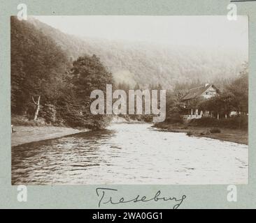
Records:
<instances>
[{"instance_id":1,"label":"pale bare riverbank wedge below the left-hand trees","mask_svg":"<svg viewBox=\"0 0 256 223\"><path fill-rule=\"evenodd\" d=\"M13 129L15 132L11 134L11 146L89 131L56 126L14 126Z\"/></svg>"}]
</instances>

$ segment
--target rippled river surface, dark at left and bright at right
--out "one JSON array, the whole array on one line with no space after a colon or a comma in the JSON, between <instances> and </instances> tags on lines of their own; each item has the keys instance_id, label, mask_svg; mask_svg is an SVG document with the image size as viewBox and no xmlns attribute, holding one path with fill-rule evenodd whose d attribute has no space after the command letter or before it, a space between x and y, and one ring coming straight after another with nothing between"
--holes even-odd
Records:
<instances>
[{"instance_id":1,"label":"rippled river surface, dark at left and bright at right","mask_svg":"<svg viewBox=\"0 0 256 223\"><path fill-rule=\"evenodd\" d=\"M12 148L14 185L248 183L248 146L113 124Z\"/></svg>"}]
</instances>

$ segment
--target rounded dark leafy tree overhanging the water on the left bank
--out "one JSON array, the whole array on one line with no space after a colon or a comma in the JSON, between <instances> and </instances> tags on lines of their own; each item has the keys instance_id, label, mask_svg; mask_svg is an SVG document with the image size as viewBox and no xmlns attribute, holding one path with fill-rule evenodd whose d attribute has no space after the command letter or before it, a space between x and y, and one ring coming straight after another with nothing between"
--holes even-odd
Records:
<instances>
[{"instance_id":1,"label":"rounded dark leafy tree overhanging the water on the left bank","mask_svg":"<svg viewBox=\"0 0 256 223\"><path fill-rule=\"evenodd\" d=\"M90 94L94 90L101 90L106 96L106 84L113 84L113 76L101 63L99 57L80 56L73 62L71 68L71 82L73 92L80 105L80 115L83 125L90 128L103 128L110 121L111 116L93 115L90 111Z\"/></svg>"}]
</instances>

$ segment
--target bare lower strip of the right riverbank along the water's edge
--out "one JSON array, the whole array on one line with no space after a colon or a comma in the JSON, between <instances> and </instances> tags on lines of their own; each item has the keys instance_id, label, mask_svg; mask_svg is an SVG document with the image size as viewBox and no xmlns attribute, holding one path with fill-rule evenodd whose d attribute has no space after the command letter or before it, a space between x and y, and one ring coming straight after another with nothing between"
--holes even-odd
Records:
<instances>
[{"instance_id":1,"label":"bare lower strip of the right riverbank along the water's edge","mask_svg":"<svg viewBox=\"0 0 256 223\"><path fill-rule=\"evenodd\" d=\"M208 137L211 139L220 139L223 141L232 141L238 144L248 145L247 130L218 128L220 132L212 133L211 130L213 128L168 123L157 123L154 127L167 132L186 132L187 135L194 137Z\"/></svg>"}]
</instances>

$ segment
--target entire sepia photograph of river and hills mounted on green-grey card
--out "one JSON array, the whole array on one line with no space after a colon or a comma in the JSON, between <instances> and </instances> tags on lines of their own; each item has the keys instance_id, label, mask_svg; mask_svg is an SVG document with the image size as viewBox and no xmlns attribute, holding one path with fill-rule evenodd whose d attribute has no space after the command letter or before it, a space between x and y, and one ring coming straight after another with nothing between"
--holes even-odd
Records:
<instances>
[{"instance_id":1,"label":"entire sepia photograph of river and hills mounted on green-grey card","mask_svg":"<svg viewBox=\"0 0 256 223\"><path fill-rule=\"evenodd\" d=\"M10 17L12 185L248 184L248 17Z\"/></svg>"}]
</instances>

